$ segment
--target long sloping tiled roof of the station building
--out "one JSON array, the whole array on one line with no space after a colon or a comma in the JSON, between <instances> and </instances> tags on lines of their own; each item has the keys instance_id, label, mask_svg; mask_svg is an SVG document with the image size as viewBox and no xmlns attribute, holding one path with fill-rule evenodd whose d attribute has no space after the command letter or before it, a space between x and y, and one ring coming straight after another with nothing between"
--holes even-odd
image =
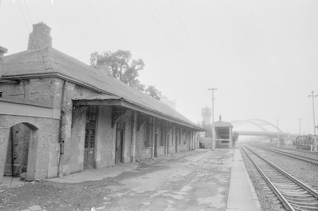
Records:
<instances>
[{"instance_id":1,"label":"long sloping tiled roof of the station building","mask_svg":"<svg viewBox=\"0 0 318 211\"><path fill-rule=\"evenodd\" d=\"M51 47L46 47L38 53L35 50L28 50L6 56L0 72L2 79L30 77L32 75L36 77L48 74L69 78L75 83L93 88L108 96L125 99L147 110L198 128L195 123L170 106ZM85 98L90 98L90 96Z\"/></svg>"}]
</instances>

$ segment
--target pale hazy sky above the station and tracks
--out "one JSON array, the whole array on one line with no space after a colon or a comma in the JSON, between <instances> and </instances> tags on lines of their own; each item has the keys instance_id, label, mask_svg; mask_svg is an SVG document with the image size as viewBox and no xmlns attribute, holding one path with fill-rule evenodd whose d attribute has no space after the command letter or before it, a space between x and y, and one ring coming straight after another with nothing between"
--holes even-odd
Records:
<instances>
[{"instance_id":1,"label":"pale hazy sky above the station and tracks","mask_svg":"<svg viewBox=\"0 0 318 211\"><path fill-rule=\"evenodd\" d=\"M141 83L156 85L195 123L214 87L215 121L278 118L281 130L299 133L301 118L301 133L314 132L318 1L1 0L5 55L25 51L41 21L53 48L86 64L93 51L142 58ZM318 97L315 116L318 125Z\"/></svg>"}]
</instances>

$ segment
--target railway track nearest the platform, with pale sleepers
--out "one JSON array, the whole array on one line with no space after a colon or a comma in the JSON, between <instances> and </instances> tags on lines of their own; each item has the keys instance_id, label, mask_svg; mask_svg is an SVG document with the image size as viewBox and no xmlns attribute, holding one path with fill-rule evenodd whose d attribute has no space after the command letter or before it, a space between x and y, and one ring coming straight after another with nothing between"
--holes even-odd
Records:
<instances>
[{"instance_id":1,"label":"railway track nearest the platform, with pale sleepers","mask_svg":"<svg viewBox=\"0 0 318 211\"><path fill-rule=\"evenodd\" d=\"M267 184L287 210L318 211L318 192L240 144Z\"/></svg>"}]
</instances>

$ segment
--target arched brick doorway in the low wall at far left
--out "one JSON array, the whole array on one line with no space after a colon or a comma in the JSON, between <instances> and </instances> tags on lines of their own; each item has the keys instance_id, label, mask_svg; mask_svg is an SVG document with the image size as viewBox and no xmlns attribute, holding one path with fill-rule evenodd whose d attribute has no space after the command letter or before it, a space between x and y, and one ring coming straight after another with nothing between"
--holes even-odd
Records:
<instances>
[{"instance_id":1,"label":"arched brick doorway in the low wall at far left","mask_svg":"<svg viewBox=\"0 0 318 211\"><path fill-rule=\"evenodd\" d=\"M21 122L9 128L3 174L19 176L26 173L26 180L35 180L38 128Z\"/></svg>"}]
</instances>

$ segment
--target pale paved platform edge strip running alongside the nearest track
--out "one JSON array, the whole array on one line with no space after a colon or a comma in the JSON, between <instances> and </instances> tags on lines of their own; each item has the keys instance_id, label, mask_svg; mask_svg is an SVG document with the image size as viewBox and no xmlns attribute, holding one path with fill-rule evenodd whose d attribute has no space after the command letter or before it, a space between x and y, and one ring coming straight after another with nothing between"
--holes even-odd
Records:
<instances>
[{"instance_id":1,"label":"pale paved platform edge strip running alongside the nearest track","mask_svg":"<svg viewBox=\"0 0 318 211\"><path fill-rule=\"evenodd\" d=\"M234 149L226 211L261 211L239 149Z\"/></svg>"}]
</instances>

